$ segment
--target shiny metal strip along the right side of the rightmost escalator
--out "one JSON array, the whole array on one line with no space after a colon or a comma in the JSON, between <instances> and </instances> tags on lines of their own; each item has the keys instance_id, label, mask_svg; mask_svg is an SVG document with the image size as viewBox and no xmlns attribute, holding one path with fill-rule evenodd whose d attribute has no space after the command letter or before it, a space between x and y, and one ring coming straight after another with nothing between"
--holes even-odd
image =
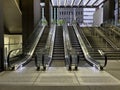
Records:
<instances>
[{"instance_id":1,"label":"shiny metal strip along the right side of the rightmost escalator","mask_svg":"<svg viewBox=\"0 0 120 90\"><path fill-rule=\"evenodd\" d=\"M93 64L93 66L94 66L95 68L97 68L98 70L103 70L103 66L102 66L99 62L95 61L95 60L90 56L90 54L89 54L89 52L88 52L88 50L87 50L87 47L86 47L84 41L82 40L82 37L81 37L80 34L78 33L78 29L77 29L76 24L73 24L73 27L74 27L75 33L76 33L76 35L77 35L78 41L79 41L79 43L80 43L80 45L81 45L81 48L82 48L82 50L83 50L83 53L84 53L84 55L85 55L86 60L87 60L88 62L90 62L91 64Z\"/></svg>"}]
</instances>

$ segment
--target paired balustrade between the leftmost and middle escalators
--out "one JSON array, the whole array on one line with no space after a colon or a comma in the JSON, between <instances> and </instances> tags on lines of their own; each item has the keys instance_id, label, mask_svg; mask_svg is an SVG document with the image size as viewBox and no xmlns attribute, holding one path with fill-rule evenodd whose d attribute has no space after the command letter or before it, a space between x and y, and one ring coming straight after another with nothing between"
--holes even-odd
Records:
<instances>
[{"instance_id":1,"label":"paired balustrade between the leftmost and middle escalators","mask_svg":"<svg viewBox=\"0 0 120 90\"><path fill-rule=\"evenodd\" d=\"M55 31L56 25L52 24L50 27L50 32L47 38L47 42L45 48L42 48L39 53L35 55L35 64L37 67L37 71L48 69L52 62L52 54L54 47L54 39L55 39Z\"/></svg>"}]
</instances>

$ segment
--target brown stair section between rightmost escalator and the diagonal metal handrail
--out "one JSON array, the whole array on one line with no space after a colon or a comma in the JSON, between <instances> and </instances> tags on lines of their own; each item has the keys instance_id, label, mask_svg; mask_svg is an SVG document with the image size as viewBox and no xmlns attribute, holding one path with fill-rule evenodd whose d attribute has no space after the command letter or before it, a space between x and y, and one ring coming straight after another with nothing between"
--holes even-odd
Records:
<instances>
[{"instance_id":1,"label":"brown stair section between rightmost escalator and the diagonal metal handrail","mask_svg":"<svg viewBox=\"0 0 120 90\"><path fill-rule=\"evenodd\" d=\"M113 48L109 43L107 43L107 41L104 40L103 37L99 35L99 33L96 31L95 28L96 27L84 27L84 28L81 28L81 30L83 31L91 47L93 48L93 50L89 51L90 55L95 60L101 61L101 60L104 60L103 59L104 57L100 56L100 53L98 52L98 50L102 50L104 53L107 53L107 52L113 51ZM110 60L114 59L113 57L109 57L108 53L107 53L107 58Z\"/></svg>"}]
</instances>

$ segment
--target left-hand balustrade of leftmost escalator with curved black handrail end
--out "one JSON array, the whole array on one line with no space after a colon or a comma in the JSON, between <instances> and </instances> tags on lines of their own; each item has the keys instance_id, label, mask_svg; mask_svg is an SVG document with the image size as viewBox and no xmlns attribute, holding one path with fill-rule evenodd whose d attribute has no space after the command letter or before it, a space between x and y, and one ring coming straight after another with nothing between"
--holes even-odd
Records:
<instances>
[{"instance_id":1,"label":"left-hand balustrade of leftmost escalator with curved black handrail end","mask_svg":"<svg viewBox=\"0 0 120 90\"><path fill-rule=\"evenodd\" d=\"M18 57L14 63L11 63L11 58L10 58L14 50L9 52L8 57L7 57L8 60L6 62L7 64L9 64L7 70L18 69L19 67L25 65L26 63L30 61L45 27L46 25L41 26L41 21L38 23L38 25L33 30L32 34L29 36L27 42L23 46L22 57Z\"/></svg>"}]
</instances>

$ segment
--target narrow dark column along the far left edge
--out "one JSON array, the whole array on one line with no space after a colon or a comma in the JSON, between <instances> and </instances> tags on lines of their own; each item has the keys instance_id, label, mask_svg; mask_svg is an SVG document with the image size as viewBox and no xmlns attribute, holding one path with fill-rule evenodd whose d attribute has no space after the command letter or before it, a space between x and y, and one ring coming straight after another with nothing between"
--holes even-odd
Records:
<instances>
[{"instance_id":1,"label":"narrow dark column along the far left edge","mask_svg":"<svg viewBox=\"0 0 120 90\"><path fill-rule=\"evenodd\" d=\"M0 0L0 71L4 70L3 0Z\"/></svg>"}]
</instances>

